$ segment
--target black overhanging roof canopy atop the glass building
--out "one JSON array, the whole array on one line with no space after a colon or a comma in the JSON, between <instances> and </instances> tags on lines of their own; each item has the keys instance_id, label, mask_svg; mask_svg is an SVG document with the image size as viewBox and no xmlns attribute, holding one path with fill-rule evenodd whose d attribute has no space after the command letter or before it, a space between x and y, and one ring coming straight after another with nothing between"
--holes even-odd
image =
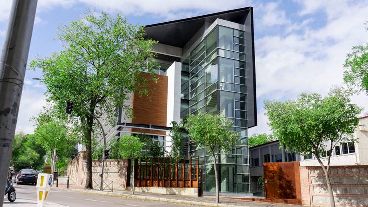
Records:
<instances>
[{"instance_id":1,"label":"black overhanging roof canopy atop the glass building","mask_svg":"<svg viewBox=\"0 0 368 207\"><path fill-rule=\"evenodd\" d=\"M245 18L251 9L252 7L245 7L187 19L146 25L145 37L147 39L159 41L161 44L184 47L205 22L212 23L216 19L223 19L238 24L244 24Z\"/></svg>"}]
</instances>

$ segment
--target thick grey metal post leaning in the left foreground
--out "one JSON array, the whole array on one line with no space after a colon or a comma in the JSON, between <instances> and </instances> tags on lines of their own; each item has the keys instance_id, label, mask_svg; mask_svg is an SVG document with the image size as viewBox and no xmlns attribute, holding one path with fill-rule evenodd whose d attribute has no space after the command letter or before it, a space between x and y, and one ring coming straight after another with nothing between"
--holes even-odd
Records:
<instances>
[{"instance_id":1,"label":"thick grey metal post leaning in the left foreground","mask_svg":"<svg viewBox=\"0 0 368 207\"><path fill-rule=\"evenodd\" d=\"M13 0L0 57L0 195L5 193L37 0ZM3 199L0 199L2 207Z\"/></svg>"}]
</instances>

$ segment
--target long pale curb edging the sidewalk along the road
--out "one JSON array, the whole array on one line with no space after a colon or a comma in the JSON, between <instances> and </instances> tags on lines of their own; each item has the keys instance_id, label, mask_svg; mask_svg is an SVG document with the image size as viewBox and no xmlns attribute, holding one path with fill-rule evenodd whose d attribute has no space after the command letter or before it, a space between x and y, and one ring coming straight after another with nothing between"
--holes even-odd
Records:
<instances>
[{"instance_id":1,"label":"long pale curb edging the sidewalk along the road","mask_svg":"<svg viewBox=\"0 0 368 207\"><path fill-rule=\"evenodd\" d=\"M119 197L119 198L132 198L132 199L151 200L151 201L162 201L162 202L169 202L169 203L175 203L175 204L187 204L187 205L196 205L196 206L251 207L251 206L238 206L238 205L231 205L231 204L216 204L216 203L201 202L201 201L187 201L187 200L178 200L178 199L158 198L158 197L153 197L153 196L131 195L131 194L114 193L114 192L97 191L97 190L84 190L84 189L68 189L68 190L81 192L81 193L102 195L102 196L111 196L111 197Z\"/></svg>"}]
</instances>

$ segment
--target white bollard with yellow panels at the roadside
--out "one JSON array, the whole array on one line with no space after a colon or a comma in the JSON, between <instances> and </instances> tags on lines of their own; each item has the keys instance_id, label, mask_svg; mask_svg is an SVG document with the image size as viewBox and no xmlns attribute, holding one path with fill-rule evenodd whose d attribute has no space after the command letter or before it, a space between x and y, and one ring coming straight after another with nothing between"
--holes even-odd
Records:
<instances>
[{"instance_id":1,"label":"white bollard with yellow panels at the roadside","mask_svg":"<svg viewBox=\"0 0 368 207\"><path fill-rule=\"evenodd\" d=\"M44 207L52 186L52 174L40 173L37 176L37 207Z\"/></svg>"}]
</instances>

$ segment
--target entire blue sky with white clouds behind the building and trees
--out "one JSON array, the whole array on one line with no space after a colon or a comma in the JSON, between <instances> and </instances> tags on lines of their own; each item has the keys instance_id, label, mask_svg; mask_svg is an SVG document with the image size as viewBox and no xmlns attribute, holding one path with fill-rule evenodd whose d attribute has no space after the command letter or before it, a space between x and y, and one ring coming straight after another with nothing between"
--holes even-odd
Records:
<instances>
[{"instance_id":1,"label":"entire blue sky with white clouds behind the building and trees","mask_svg":"<svg viewBox=\"0 0 368 207\"><path fill-rule=\"evenodd\" d=\"M343 85L346 54L368 42L368 0L39 0L28 63L59 52L57 26L80 18L87 9L120 13L129 23L149 25L247 6L254 9L258 108L258 125L249 135L270 133L265 100L326 95L331 86ZM1 47L10 7L11 0L0 0ZM46 105L45 86L33 77L41 77L41 71L26 72L17 132L32 133L29 119ZM354 95L352 102L368 112L366 94Z\"/></svg>"}]
</instances>

